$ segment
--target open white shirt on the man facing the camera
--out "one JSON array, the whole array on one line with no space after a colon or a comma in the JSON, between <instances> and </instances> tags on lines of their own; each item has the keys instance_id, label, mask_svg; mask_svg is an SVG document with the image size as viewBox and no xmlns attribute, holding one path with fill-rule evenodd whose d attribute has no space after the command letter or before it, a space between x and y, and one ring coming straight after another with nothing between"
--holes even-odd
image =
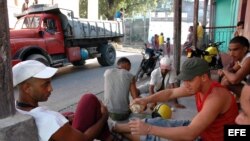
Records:
<instances>
[{"instance_id":1,"label":"open white shirt on the man facing the camera","mask_svg":"<svg viewBox=\"0 0 250 141\"><path fill-rule=\"evenodd\" d=\"M163 77L162 77L160 68L155 69L151 73L151 79L150 79L149 85L154 85L155 92L161 88L162 79ZM169 84L173 84L176 82L177 82L177 75L176 75L175 69L172 68L165 76L164 88L166 89Z\"/></svg>"}]
</instances>

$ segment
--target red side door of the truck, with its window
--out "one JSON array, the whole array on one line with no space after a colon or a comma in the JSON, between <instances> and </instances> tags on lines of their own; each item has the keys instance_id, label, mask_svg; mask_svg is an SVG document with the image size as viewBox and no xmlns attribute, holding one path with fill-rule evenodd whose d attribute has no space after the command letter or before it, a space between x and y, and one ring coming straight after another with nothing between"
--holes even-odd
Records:
<instances>
[{"instance_id":1,"label":"red side door of the truck, with its window","mask_svg":"<svg viewBox=\"0 0 250 141\"><path fill-rule=\"evenodd\" d=\"M44 40L49 54L64 53L64 36L60 20L57 17L47 16L42 21Z\"/></svg>"}]
</instances>

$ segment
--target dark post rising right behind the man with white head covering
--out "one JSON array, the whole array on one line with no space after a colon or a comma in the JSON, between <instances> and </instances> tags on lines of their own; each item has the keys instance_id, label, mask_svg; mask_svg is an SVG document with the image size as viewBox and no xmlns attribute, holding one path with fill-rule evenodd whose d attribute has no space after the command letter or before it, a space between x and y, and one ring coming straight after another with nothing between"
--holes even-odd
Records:
<instances>
[{"instance_id":1,"label":"dark post rising right behind the man with white head covering","mask_svg":"<svg viewBox=\"0 0 250 141\"><path fill-rule=\"evenodd\" d=\"M174 1L174 65L177 74L180 73L181 61L181 12L182 0ZM180 83L178 84L180 85Z\"/></svg>"}]
</instances>

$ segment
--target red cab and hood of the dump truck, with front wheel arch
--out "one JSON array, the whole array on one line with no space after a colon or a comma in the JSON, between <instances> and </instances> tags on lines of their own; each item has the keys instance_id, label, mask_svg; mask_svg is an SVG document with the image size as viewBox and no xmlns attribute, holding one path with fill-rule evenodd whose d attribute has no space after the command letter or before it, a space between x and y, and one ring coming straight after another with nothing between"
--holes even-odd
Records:
<instances>
[{"instance_id":1,"label":"red cab and hood of the dump truck, with front wheel arch","mask_svg":"<svg viewBox=\"0 0 250 141\"><path fill-rule=\"evenodd\" d=\"M51 14L29 14L21 17L14 29L10 30L10 42L12 59L17 62L35 59L50 65L50 56L65 53L61 22L57 16Z\"/></svg>"}]
</instances>

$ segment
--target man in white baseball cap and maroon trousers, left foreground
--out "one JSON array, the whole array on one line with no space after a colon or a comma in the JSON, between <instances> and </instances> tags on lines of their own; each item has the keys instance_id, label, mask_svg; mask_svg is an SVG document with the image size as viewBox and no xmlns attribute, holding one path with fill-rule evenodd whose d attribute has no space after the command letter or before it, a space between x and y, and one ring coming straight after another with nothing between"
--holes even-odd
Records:
<instances>
[{"instance_id":1,"label":"man in white baseball cap and maroon trousers, left foreground","mask_svg":"<svg viewBox=\"0 0 250 141\"><path fill-rule=\"evenodd\" d=\"M84 94L76 112L68 117L38 105L47 101L53 90L51 77L57 72L56 68L27 60L16 64L12 71L13 84L19 90L16 109L35 119L40 141L112 140L107 108L93 94Z\"/></svg>"}]
</instances>

